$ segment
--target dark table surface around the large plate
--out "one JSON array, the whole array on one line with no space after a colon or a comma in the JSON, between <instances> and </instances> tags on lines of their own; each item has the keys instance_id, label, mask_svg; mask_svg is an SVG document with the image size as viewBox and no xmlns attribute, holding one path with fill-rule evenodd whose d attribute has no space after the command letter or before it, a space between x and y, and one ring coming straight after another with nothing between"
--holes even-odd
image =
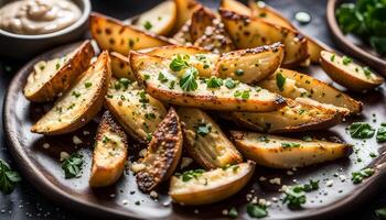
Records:
<instances>
[{"instance_id":1,"label":"dark table surface around the large plate","mask_svg":"<svg viewBox=\"0 0 386 220\"><path fill-rule=\"evenodd\" d=\"M147 0L153 4L159 0ZM216 7L217 0L210 0L210 7ZM293 14L298 11L305 11L311 14L312 21L308 25L300 26L305 33L315 36L322 42L334 46L330 32L325 23L325 6L326 0L266 0L266 2L293 20ZM130 9L130 10L128 10ZM93 10L106 13L108 15L125 19L146 10L146 6L139 0L94 0ZM130 12L128 12L130 11ZM1 50L1 48L0 48ZM8 84L12 76L23 62L9 61L0 57L0 112L2 116L3 98L8 88ZM17 164L12 162L10 154L7 152L6 136L3 133L2 118L0 120L0 158L6 160L11 166L18 169ZM7 119L4 119L7 120ZM379 191L374 198L355 209L355 212L344 213L344 219L377 219L374 209L386 206L386 190ZM65 210L40 195L31 185L23 180L14 189L11 195L0 193L0 219L1 220L41 220L41 219L86 219L84 216Z\"/></svg>"}]
</instances>

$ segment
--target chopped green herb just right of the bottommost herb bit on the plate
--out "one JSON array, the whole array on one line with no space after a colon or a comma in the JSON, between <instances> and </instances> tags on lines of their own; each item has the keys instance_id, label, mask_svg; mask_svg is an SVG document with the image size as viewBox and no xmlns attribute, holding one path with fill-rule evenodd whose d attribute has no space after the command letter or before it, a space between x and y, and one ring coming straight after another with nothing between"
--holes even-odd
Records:
<instances>
[{"instance_id":1,"label":"chopped green herb just right of the bottommost herb bit on the plate","mask_svg":"<svg viewBox=\"0 0 386 220\"><path fill-rule=\"evenodd\" d=\"M290 208L300 208L305 204L307 197L304 187L302 185L296 185L287 187L285 190L283 204L288 204Z\"/></svg>"}]
</instances>

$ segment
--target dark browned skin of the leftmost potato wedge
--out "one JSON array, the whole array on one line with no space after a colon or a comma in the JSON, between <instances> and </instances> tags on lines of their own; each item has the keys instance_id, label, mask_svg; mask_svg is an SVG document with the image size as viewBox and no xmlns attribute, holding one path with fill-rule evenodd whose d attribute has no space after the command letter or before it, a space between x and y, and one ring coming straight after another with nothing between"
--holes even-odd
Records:
<instances>
[{"instance_id":1,"label":"dark browned skin of the leftmost potato wedge","mask_svg":"<svg viewBox=\"0 0 386 220\"><path fill-rule=\"evenodd\" d=\"M31 80L31 84L37 84L37 81L32 80L33 73L31 73L24 88L25 98L33 102L45 102L52 101L60 94L65 92L76 78L88 68L89 62L94 56L94 48L88 40L83 42L75 51L73 57L49 81L45 81L39 90L33 92L29 91L29 81Z\"/></svg>"}]
</instances>

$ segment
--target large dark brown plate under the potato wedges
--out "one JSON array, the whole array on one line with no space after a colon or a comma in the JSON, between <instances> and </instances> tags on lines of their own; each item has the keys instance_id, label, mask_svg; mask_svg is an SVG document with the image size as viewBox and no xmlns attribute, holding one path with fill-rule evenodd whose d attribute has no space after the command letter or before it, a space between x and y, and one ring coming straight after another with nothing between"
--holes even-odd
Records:
<instances>
[{"instance_id":1,"label":"large dark brown plate under the potato wedges","mask_svg":"<svg viewBox=\"0 0 386 220\"><path fill-rule=\"evenodd\" d=\"M354 152L350 158L335 161L328 164L301 168L293 175L288 175L287 170L268 169L257 167L256 174L244 190L236 196L212 205L203 207L181 207L170 204L167 196L167 187L162 187L160 198L156 201L148 195L137 189L137 185L131 172L127 172L124 177L112 187L93 190L88 187L90 168L90 148L94 142L96 121L92 121L81 131L68 135L44 138L43 135L30 132L31 124L41 117L50 105L30 103L23 96L22 89L25 79L34 63L41 59L57 57L73 50L76 45L66 45L47 52L26 64L13 78L10 84L4 103L4 129L9 141L9 151L18 163L23 177L26 178L37 190L56 204L67 207L77 212L84 212L100 218L138 218L138 219L207 219L222 218L222 211L230 207L236 207L240 219L248 218L246 213L246 197L248 194L271 200L272 197L280 198L278 191L280 186L269 184L269 179L280 177L285 185L302 184L312 179L320 179L320 189L307 195L308 200L304 208L290 210L279 200L272 202L269 208L270 219L308 219L326 218L336 213L343 213L353 209L360 202L365 201L376 194L385 179L385 169L382 168L386 162L382 145L375 139L367 141L353 140L346 133L345 128L353 121L366 121L374 127L386 122L386 98L385 87L368 94L353 96L365 103L364 112L361 116L349 119L346 122L332 128L329 131L318 131L311 134L331 139L336 136L344 142L354 144ZM304 73L313 73L320 79L328 82L331 80L323 74L320 67L313 66L301 69ZM373 116L375 114L375 117ZM84 135L83 131L89 131ZM299 135L304 135L301 133ZM75 147L73 135L81 138L84 143ZM43 144L49 143L50 148L44 148ZM132 142L131 144L132 145ZM385 146L385 145L384 145ZM85 157L83 175L81 178L65 179L61 169L60 153L62 151L81 151ZM130 147L129 154L133 150ZM378 156L372 158L369 153ZM361 160L360 160L361 158ZM358 160L361 162L358 162ZM351 173L366 166L377 167L376 174L366 179L363 184L353 185ZM340 175L346 177L345 182L340 180ZM259 177L265 176L267 180L260 182ZM328 179L333 179L333 187L326 187ZM254 193L250 190L254 189ZM136 205L140 201L140 206Z\"/></svg>"}]
</instances>

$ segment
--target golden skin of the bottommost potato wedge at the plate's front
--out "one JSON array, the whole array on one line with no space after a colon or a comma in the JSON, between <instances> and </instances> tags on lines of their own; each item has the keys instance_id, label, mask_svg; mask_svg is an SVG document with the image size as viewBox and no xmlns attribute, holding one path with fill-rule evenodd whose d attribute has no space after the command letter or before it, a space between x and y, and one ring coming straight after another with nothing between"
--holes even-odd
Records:
<instances>
[{"instance_id":1,"label":"golden skin of the bottommost potato wedge at the plate's front","mask_svg":"<svg viewBox=\"0 0 386 220\"><path fill-rule=\"evenodd\" d=\"M244 174L238 175L238 177L235 179L222 179L224 183L219 183L217 186L212 186L206 189L196 189L195 186L190 185L186 186L189 187L190 191L185 193L179 193L174 189L175 185L178 185L181 179L173 176L170 182L169 196L174 202L186 206L208 205L221 201L235 195L248 184L255 172L255 164L256 163L253 161L238 164L239 166L246 166L246 170Z\"/></svg>"}]
</instances>

